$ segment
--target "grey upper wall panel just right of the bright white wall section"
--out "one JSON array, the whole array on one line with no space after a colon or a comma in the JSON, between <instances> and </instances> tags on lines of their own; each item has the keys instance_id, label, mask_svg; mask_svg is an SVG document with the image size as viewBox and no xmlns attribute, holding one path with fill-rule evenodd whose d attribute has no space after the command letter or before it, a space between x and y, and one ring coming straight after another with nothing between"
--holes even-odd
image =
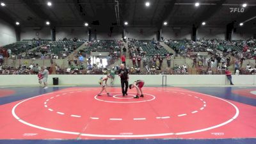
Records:
<instances>
[{"instance_id":1,"label":"grey upper wall panel just right of the bright white wall section","mask_svg":"<svg viewBox=\"0 0 256 144\"><path fill-rule=\"evenodd\" d=\"M51 28L50 27L26 27L21 28L20 40L42 38L51 40Z\"/></svg>"}]
</instances>

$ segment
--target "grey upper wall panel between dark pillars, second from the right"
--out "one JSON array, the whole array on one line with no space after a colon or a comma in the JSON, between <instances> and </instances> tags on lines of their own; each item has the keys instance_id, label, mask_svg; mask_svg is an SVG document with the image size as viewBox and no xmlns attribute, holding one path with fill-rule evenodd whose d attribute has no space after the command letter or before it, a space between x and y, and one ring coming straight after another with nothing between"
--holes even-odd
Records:
<instances>
[{"instance_id":1,"label":"grey upper wall panel between dark pillars, second from the right","mask_svg":"<svg viewBox=\"0 0 256 144\"><path fill-rule=\"evenodd\" d=\"M218 40L225 40L226 28L213 28L201 26L197 29L197 38L204 38L211 40L217 38Z\"/></svg>"}]
</instances>

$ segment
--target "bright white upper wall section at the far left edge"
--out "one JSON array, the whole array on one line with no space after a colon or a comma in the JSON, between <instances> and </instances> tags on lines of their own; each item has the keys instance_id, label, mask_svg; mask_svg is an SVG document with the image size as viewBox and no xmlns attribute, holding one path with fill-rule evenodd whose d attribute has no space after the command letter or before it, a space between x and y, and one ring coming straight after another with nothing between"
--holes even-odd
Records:
<instances>
[{"instance_id":1,"label":"bright white upper wall section at the far left edge","mask_svg":"<svg viewBox=\"0 0 256 144\"><path fill-rule=\"evenodd\" d=\"M16 42L15 28L0 19L0 46Z\"/></svg>"}]
</instances>

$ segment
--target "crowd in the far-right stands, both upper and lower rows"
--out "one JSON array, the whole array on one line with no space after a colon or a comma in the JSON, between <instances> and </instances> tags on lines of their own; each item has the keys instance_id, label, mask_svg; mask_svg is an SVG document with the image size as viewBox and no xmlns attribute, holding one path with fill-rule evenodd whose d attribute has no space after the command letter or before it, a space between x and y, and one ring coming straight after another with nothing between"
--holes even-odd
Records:
<instances>
[{"instance_id":1,"label":"crowd in the far-right stands, both upper and lower rows","mask_svg":"<svg viewBox=\"0 0 256 144\"><path fill-rule=\"evenodd\" d=\"M232 42L216 39L198 39L196 42L191 40L164 40L164 42L174 49L175 56L180 54L192 58L192 67L207 67L209 73L215 69L219 74L224 74L225 70L234 64L234 73L239 70L240 74L248 72L254 74L252 69L248 70L243 66L244 60L255 59L256 62L256 40L253 38ZM208 54L202 56L200 52L208 52Z\"/></svg>"}]
</instances>

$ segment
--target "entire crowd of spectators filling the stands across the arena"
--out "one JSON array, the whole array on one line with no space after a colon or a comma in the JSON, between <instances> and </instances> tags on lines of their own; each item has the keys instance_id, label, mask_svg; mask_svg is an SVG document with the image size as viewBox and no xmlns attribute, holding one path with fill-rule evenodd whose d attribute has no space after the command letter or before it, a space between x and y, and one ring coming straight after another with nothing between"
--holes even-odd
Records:
<instances>
[{"instance_id":1,"label":"entire crowd of spectators filling the stands across the arena","mask_svg":"<svg viewBox=\"0 0 256 144\"><path fill-rule=\"evenodd\" d=\"M70 41L70 40L68 40ZM41 45L40 41L36 41L38 45ZM64 42L61 40L61 43ZM81 40L76 40L76 42L81 42ZM62 53L60 55L54 54L52 49L56 47L54 43L47 43L38 47L36 51L28 52L26 56L31 56L29 58L47 57L49 58L60 58L66 57L71 52L77 48L76 42L72 40L72 45L70 43L63 44ZM132 60L132 65L127 68L131 71L131 74L141 74L147 72L147 74L156 74L166 70L163 68L163 61L166 60L167 68L170 70L171 61L178 54L184 52L184 56L193 59L192 67L205 67L207 72L210 73L212 70L216 70L220 74L225 72L225 70L234 65L234 74L255 74L255 63L246 63L243 65L244 60L255 59L256 57L256 40L240 40L228 42L226 40L204 40L198 39L196 42L191 40L164 40L164 42L173 48L175 54L170 52L157 53L157 50L161 49L161 45L156 40L135 40L133 38L127 39L128 47L124 46L124 41L122 40L93 40L88 42L90 51L88 52L87 47L68 62L68 68L56 67L56 73L58 74L100 74L108 71L107 68L99 67L96 63L92 63L90 52L93 51L108 51L109 55L107 57L108 65L115 63L118 58L120 58L120 51L129 52L129 58ZM156 54L148 54L140 45L154 45L152 47ZM66 53L67 52L67 53ZM200 52L208 52L207 56L201 55ZM85 53L85 54L84 54ZM1 74L34 74L36 73L36 68L38 66L31 65L20 65L18 68L5 67L3 65L3 58L12 55L12 51L6 49L0 49L0 64L1 64ZM127 56L127 55L126 55ZM86 61L87 60L87 61ZM71 63L74 61L74 63ZM83 65L86 61L86 67ZM102 60L101 60L102 61ZM255 59L256 62L256 59ZM102 62L101 62L102 63ZM188 66L184 65L172 65L173 74L188 74Z\"/></svg>"}]
</instances>

